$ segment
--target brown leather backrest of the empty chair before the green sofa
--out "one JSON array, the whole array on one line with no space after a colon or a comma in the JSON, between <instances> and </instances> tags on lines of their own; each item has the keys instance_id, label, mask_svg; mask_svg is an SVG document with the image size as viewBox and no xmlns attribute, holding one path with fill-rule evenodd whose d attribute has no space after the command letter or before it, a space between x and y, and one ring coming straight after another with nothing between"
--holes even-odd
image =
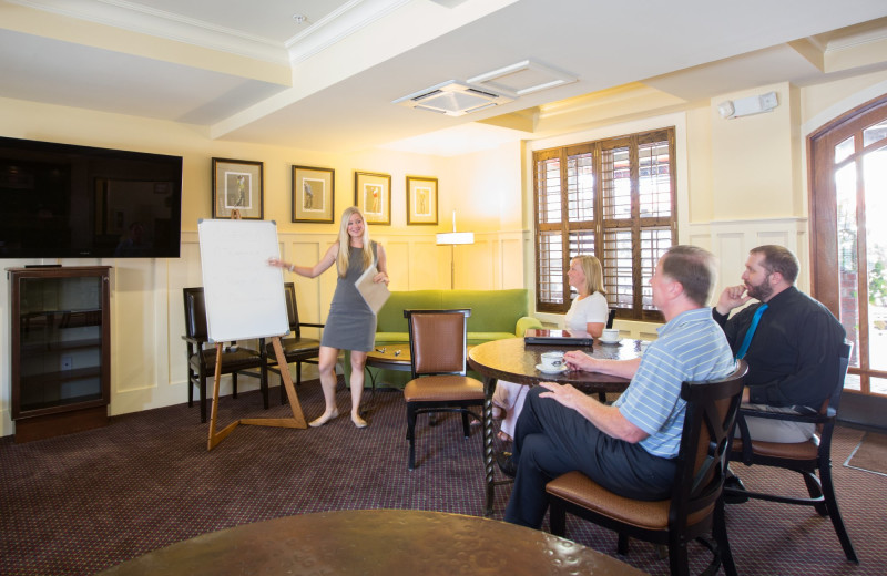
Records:
<instances>
[{"instance_id":1,"label":"brown leather backrest of the empty chair before the green sofa","mask_svg":"<svg viewBox=\"0 0 887 576\"><path fill-rule=\"evenodd\" d=\"M409 328L412 378L466 373L469 308L404 310Z\"/></svg>"}]
</instances>

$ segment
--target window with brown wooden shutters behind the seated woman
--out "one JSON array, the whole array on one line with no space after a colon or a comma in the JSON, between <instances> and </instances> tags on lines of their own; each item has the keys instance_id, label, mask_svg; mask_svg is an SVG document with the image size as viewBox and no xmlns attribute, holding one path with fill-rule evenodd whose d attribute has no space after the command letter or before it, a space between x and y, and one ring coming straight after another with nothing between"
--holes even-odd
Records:
<instances>
[{"instance_id":1,"label":"window with brown wooden shutters behind the seated woman","mask_svg":"<svg viewBox=\"0 0 887 576\"><path fill-rule=\"evenodd\" d=\"M533 154L537 309L567 312L570 259L601 260L619 318L661 321L650 278L677 238L674 128Z\"/></svg>"}]
</instances>

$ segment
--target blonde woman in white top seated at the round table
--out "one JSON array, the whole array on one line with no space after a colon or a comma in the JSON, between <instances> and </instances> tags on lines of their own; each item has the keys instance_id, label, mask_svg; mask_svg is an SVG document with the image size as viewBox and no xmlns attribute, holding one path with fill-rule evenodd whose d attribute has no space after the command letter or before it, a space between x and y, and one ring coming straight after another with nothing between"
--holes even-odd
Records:
<instances>
[{"instance_id":1,"label":"blonde woman in white top seated at the round table","mask_svg":"<svg viewBox=\"0 0 887 576\"><path fill-rule=\"evenodd\" d=\"M564 317L567 330L584 330L594 338L599 338L606 327L606 298L603 290L603 271L601 263L594 256L577 256L570 261L567 272L570 286L575 288L579 296L570 305L570 311ZM499 381L492 395L493 418L501 418L499 440L510 442L514 436L514 426L518 422L523 399L530 387L514 382Z\"/></svg>"}]
</instances>

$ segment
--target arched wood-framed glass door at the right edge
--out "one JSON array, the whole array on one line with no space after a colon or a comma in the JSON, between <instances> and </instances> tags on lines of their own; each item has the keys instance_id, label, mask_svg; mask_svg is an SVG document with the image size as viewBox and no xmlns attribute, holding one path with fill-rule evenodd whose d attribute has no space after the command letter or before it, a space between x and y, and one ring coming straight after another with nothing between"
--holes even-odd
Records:
<instances>
[{"instance_id":1,"label":"arched wood-framed glass door at the right edge","mask_svg":"<svg viewBox=\"0 0 887 576\"><path fill-rule=\"evenodd\" d=\"M853 340L845 389L887 395L887 95L810 136L813 294Z\"/></svg>"}]
</instances>

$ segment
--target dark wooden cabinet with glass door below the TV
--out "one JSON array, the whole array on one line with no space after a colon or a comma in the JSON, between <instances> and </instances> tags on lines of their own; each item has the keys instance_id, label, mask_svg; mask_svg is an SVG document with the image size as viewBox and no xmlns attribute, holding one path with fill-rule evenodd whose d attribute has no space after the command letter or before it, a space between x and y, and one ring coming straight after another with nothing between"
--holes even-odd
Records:
<instances>
[{"instance_id":1,"label":"dark wooden cabinet with glass door below the TV","mask_svg":"<svg viewBox=\"0 0 887 576\"><path fill-rule=\"evenodd\" d=\"M7 268L16 441L108 423L109 266Z\"/></svg>"}]
</instances>

